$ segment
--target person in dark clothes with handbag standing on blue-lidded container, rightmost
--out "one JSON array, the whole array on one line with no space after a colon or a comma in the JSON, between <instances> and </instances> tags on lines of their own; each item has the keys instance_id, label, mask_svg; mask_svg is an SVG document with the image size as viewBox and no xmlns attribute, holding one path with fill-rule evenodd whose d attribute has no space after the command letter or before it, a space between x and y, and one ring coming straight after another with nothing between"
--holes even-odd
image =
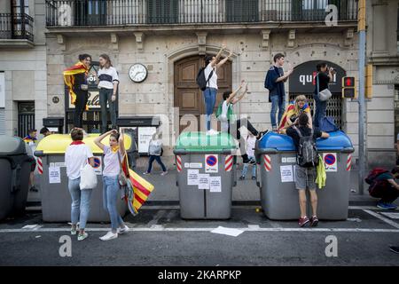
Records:
<instances>
[{"instance_id":1,"label":"person in dark clothes with handbag standing on blue-lidded container, rightmost","mask_svg":"<svg viewBox=\"0 0 399 284\"><path fill-rule=\"evenodd\" d=\"M319 99L319 92L328 89L328 83L333 81L333 76L335 71L332 67L328 67L327 63L320 62L316 66L317 68L317 75L315 77L315 93L313 98L315 99L315 118L314 118L314 125L316 128L320 128L323 126L323 120L325 119L325 114L327 111L327 100L320 100ZM317 90L318 86L318 90Z\"/></svg>"}]
</instances>

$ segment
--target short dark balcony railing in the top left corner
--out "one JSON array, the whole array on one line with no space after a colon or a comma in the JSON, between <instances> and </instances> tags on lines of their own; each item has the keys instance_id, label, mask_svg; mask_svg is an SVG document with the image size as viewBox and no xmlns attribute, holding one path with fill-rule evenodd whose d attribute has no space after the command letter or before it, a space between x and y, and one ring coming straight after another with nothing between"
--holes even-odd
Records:
<instances>
[{"instance_id":1,"label":"short dark balcony railing in the top left corner","mask_svg":"<svg viewBox=\"0 0 399 284\"><path fill-rule=\"evenodd\" d=\"M34 41L34 20L27 14L0 13L0 39Z\"/></svg>"}]
</instances>

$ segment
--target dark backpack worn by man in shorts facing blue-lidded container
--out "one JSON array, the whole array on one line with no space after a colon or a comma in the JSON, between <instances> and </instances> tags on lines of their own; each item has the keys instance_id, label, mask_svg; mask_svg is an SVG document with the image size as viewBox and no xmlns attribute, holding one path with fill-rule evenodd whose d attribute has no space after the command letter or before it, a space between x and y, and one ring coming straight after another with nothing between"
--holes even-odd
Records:
<instances>
[{"instance_id":1,"label":"dark backpack worn by man in shorts facing blue-lidded container","mask_svg":"<svg viewBox=\"0 0 399 284\"><path fill-rule=\"evenodd\" d=\"M318 153L316 148L316 141L313 138L313 129L310 130L309 136L303 136L301 131L293 126L300 137L298 145L297 163L303 168L317 167Z\"/></svg>"}]
</instances>

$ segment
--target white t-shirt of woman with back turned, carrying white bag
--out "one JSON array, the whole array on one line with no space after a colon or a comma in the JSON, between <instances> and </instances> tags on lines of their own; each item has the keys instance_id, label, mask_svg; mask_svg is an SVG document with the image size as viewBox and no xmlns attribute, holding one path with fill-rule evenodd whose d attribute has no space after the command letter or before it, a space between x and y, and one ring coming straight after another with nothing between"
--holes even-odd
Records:
<instances>
[{"instance_id":1,"label":"white t-shirt of woman with back turned, carrying white bag","mask_svg":"<svg viewBox=\"0 0 399 284\"><path fill-rule=\"evenodd\" d=\"M66 176L70 179L81 177L81 169L92 157L90 147L85 144L68 146L65 153Z\"/></svg>"}]
</instances>

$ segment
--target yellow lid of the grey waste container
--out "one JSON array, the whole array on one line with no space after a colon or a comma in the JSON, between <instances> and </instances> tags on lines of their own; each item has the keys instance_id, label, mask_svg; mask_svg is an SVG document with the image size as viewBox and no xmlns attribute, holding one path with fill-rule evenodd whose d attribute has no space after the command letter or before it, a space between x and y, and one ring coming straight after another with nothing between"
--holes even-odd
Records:
<instances>
[{"instance_id":1,"label":"yellow lid of the grey waste container","mask_svg":"<svg viewBox=\"0 0 399 284\"><path fill-rule=\"evenodd\" d=\"M98 138L99 134L89 134L88 137L83 138L83 142L90 146L91 152L93 154L103 154L96 144L94 144L94 139ZM107 141L109 136L103 139L103 143L108 145ZM129 149L131 146L131 138L129 135L124 135L125 148ZM72 138L69 134L51 134L43 138L36 147L35 155L47 155L47 154L65 154L67 146L72 143Z\"/></svg>"}]
</instances>

